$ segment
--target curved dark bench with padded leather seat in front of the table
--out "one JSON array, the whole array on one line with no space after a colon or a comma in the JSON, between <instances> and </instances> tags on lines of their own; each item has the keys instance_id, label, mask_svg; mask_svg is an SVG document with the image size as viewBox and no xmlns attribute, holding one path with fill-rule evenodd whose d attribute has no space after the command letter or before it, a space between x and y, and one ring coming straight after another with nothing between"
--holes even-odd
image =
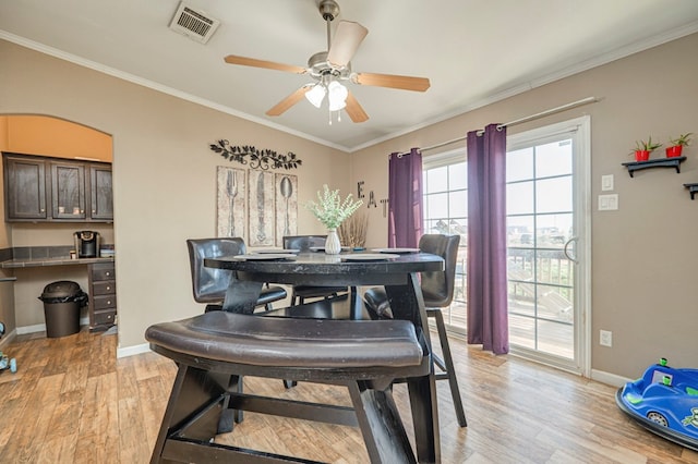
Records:
<instances>
[{"instance_id":1,"label":"curved dark bench with padded leather seat in front of the table","mask_svg":"<svg viewBox=\"0 0 698 464\"><path fill-rule=\"evenodd\" d=\"M179 367L152 463L309 462L214 443L239 411L358 426L372 463L417 462L392 394L397 378L429 381L429 351L409 321L213 312L151 326L145 337ZM353 407L245 394L242 376L346 386Z\"/></svg>"}]
</instances>

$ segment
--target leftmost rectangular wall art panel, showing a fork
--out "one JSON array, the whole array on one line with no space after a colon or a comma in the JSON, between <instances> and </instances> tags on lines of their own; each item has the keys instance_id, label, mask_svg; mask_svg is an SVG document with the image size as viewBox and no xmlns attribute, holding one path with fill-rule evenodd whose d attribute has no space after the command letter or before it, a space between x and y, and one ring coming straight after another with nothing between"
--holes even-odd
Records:
<instances>
[{"instance_id":1,"label":"leftmost rectangular wall art panel, showing a fork","mask_svg":"<svg viewBox=\"0 0 698 464\"><path fill-rule=\"evenodd\" d=\"M216 234L245 237L246 172L244 169L216 168Z\"/></svg>"}]
</instances>

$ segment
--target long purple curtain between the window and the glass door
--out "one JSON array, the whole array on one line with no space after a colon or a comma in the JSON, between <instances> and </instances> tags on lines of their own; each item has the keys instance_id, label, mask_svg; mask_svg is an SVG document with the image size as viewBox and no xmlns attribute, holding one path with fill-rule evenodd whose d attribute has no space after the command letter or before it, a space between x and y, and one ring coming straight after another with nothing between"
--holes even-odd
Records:
<instances>
[{"instance_id":1,"label":"long purple curtain between the window and the glass door","mask_svg":"<svg viewBox=\"0 0 698 464\"><path fill-rule=\"evenodd\" d=\"M468 343L509 352L506 127L468 133Z\"/></svg>"}]
</instances>

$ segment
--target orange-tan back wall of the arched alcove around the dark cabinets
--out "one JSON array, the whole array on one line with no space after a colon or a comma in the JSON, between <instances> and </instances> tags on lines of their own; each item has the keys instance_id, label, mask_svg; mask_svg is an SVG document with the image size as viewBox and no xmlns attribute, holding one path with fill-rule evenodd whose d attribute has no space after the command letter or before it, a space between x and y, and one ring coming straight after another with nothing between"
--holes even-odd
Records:
<instances>
[{"instance_id":1,"label":"orange-tan back wall of the arched alcove around the dark cabinets","mask_svg":"<svg viewBox=\"0 0 698 464\"><path fill-rule=\"evenodd\" d=\"M112 137L101 131L61 118L40 114L0 114L0 151L57 159L109 162L113 159ZM3 166L3 171L5 167ZM4 174L4 172L3 172ZM109 173L110 175L110 173ZM4 175L0 176L5 194ZM3 213L0 221L0 258L2 261L17 256L47 260L60 259L63 249L72 246L73 233L79 230L99 232L103 243L113 245L113 221L8 221L4 196L0 202ZM70 255L68 254L69 258ZM0 321L10 335L44 330L44 307L37 298L44 286L55 280L73 280L87 290L87 266L37 266L26 268L1 268L1 277L16 277L14 283L0 284ZM83 309L81 325L88 323L87 310ZM9 337L8 339L11 339ZM5 340L3 339L3 342ZM8 340L9 341L9 340Z\"/></svg>"}]
</instances>

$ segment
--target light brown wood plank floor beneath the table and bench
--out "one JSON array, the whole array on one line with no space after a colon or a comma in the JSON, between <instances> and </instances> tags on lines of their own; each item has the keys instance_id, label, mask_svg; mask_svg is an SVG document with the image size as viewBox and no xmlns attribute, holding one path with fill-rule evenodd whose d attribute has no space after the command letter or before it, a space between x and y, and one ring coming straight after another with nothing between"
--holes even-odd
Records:
<instances>
[{"instance_id":1,"label":"light brown wood plank floor beneath the table and bench","mask_svg":"<svg viewBox=\"0 0 698 464\"><path fill-rule=\"evenodd\" d=\"M116 335L82 331L25 337L7 347L19 370L0 374L0 462L148 462L176 368L153 353L116 359ZM698 463L698 453L626 418L615 388L450 343L469 425L458 427L446 382L438 382L443 463ZM339 388L245 382L249 391L349 404ZM407 407L404 386L395 389ZM258 414L248 413L217 441L333 463L368 461L357 429Z\"/></svg>"}]
</instances>

